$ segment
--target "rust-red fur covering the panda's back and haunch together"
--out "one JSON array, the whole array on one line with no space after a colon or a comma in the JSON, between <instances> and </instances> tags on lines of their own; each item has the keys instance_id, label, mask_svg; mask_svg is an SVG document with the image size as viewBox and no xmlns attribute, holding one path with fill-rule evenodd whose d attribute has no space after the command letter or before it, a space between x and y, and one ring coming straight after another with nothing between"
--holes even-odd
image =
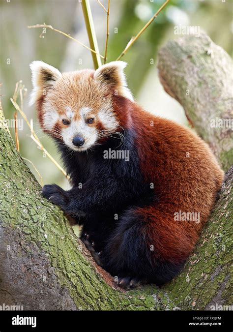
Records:
<instances>
[{"instance_id":1,"label":"rust-red fur covering the panda's back and haunch together","mask_svg":"<svg viewBox=\"0 0 233 332\"><path fill-rule=\"evenodd\" d=\"M159 203L137 209L142 220L149 220L148 245L156 243L154 259L163 257L179 263L198 240L224 173L207 144L192 130L155 117L125 98L115 99L119 118L125 115L122 123L129 125L131 118L141 171L146 182L154 183L158 195ZM174 213L179 211L200 212L200 223L175 221Z\"/></svg>"}]
</instances>

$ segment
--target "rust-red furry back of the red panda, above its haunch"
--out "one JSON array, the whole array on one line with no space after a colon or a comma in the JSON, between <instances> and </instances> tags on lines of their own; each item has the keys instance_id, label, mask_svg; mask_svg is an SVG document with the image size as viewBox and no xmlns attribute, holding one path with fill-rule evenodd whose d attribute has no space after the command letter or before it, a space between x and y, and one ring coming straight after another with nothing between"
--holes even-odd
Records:
<instances>
[{"instance_id":1,"label":"rust-red furry back of the red panda, above its haunch","mask_svg":"<svg viewBox=\"0 0 233 332\"><path fill-rule=\"evenodd\" d=\"M213 153L192 130L135 108L132 118L145 180L154 184L166 210L199 211L206 221L224 177Z\"/></svg>"}]
</instances>

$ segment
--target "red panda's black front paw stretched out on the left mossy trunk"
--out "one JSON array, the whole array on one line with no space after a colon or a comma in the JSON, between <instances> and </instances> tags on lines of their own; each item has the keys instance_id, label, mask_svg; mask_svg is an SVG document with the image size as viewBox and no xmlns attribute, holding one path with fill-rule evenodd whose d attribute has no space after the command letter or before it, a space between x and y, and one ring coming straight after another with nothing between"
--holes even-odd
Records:
<instances>
[{"instance_id":1,"label":"red panda's black front paw stretched out on the left mossy trunk","mask_svg":"<svg viewBox=\"0 0 233 332\"><path fill-rule=\"evenodd\" d=\"M68 195L61 187L56 184L46 184L43 186L41 193L49 201L65 210L68 204Z\"/></svg>"}]
</instances>

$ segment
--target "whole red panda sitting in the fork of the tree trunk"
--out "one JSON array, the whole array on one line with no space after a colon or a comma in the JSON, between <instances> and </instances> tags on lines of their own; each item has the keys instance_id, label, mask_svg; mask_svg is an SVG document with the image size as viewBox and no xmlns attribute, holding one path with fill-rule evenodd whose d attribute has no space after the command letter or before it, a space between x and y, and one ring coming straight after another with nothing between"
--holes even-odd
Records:
<instances>
[{"instance_id":1,"label":"whole red panda sitting in the fork of the tree trunk","mask_svg":"<svg viewBox=\"0 0 233 332\"><path fill-rule=\"evenodd\" d=\"M121 287L161 286L193 250L224 173L198 135L134 101L125 65L61 74L31 63L30 102L72 184L42 194L83 225L81 239Z\"/></svg>"}]
</instances>

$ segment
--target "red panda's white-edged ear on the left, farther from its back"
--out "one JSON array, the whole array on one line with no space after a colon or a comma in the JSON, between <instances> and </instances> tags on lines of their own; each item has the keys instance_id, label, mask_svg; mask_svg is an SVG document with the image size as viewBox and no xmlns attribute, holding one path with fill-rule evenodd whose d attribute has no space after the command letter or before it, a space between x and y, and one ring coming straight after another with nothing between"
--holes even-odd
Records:
<instances>
[{"instance_id":1,"label":"red panda's white-edged ear on the left, farther from its back","mask_svg":"<svg viewBox=\"0 0 233 332\"><path fill-rule=\"evenodd\" d=\"M61 77L61 73L58 69L43 61L31 62L30 69L33 90L30 95L29 105L33 105L46 93L48 88L54 85Z\"/></svg>"}]
</instances>

